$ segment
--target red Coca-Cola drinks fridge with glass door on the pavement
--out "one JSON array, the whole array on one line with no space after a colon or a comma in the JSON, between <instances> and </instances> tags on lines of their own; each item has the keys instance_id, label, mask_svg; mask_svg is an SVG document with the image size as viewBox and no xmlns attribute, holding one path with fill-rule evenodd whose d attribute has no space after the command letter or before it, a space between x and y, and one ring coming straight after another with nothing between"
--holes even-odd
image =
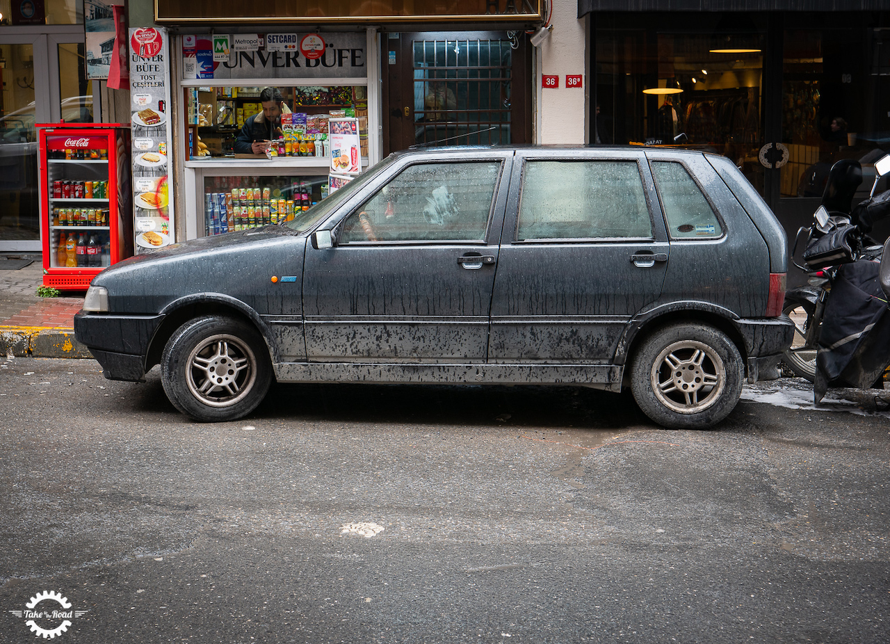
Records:
<instances>
[{"instance_id":1,"label":"red Coca-Cola drinks fridge with glass door on the pavement","mask_svg":"<svg viewBox=\"0 0 890 644\"><path fill-rule=\"evenodd\" d=\"M103 268L133 255L130 127L36 127L44 286L85 290Z\"/></svg>"}]
</instances>

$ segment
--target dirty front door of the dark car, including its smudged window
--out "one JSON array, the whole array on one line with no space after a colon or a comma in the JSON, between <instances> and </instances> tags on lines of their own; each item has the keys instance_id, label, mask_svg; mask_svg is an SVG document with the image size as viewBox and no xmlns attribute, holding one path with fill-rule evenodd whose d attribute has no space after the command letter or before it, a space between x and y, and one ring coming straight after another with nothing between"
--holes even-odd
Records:
<instances>
[{"instance_id":1,"label":"dirty front door of the dark car, including its smudged window","mask_svg":"<svg viewBox=\"0 0 890 644\"><path fill-rule=\"evenodd\" d=\"M484 362L511 153L407 156L306 249L311 362Z\"/></svg>"}]
</instances>

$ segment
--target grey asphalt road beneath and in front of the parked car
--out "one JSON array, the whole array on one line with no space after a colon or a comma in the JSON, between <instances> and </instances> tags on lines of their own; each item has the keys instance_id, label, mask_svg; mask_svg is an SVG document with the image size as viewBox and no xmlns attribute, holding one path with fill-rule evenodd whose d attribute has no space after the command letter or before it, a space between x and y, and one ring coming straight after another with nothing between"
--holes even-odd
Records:
<instances>
[{"instance_id":1,"label":"grey asphalt road beneath and in front of the parked car","mask_svg":"<svg viewBox=\"0 0 890 644\"><path fill-rule=\"evenodd\" d=\"M890 634L881 414L667 431L629 395L291 385L205 425L157 371L27 358L0 414L4 642Z\"/></svg>"}]
</instances>

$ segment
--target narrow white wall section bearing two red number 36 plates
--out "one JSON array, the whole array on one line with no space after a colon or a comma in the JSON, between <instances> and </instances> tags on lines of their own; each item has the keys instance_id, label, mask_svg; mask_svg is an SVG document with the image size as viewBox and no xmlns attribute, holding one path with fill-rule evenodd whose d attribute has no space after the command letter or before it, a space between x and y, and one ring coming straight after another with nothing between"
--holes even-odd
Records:
<instances>
[{"instance_id":1,"label":"narrow white wall section bearing two red number 36 plates","mask_svg":"<svg viewBox=\"0 0 890 644\"><path fill-rule=\"evenodd\" d=\"M553 0L554 26L535 50L536 143L587 143L586 19L578 19L578 0ZM565 86L566 74L584 76L578 88ZM543 75L559 76L558 89L543 89Z\"/></svg>"}]
</instances>

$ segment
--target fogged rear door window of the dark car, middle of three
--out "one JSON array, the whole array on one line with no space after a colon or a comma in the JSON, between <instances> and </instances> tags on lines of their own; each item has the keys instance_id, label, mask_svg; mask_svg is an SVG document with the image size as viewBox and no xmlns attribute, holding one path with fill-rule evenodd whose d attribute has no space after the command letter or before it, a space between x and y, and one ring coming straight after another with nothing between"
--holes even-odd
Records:
<instances>
[{"instance_id":1,"label":"fogged rear door window of the dark car, middle of three","mask_svg":"<svg viewBox=\"0 0 890 644\"><path fill-rule=\"evenodd\" d=\"M633 160L530 160L522 170L516 240L651 239Z\"/></svg>"}]
</instances>

